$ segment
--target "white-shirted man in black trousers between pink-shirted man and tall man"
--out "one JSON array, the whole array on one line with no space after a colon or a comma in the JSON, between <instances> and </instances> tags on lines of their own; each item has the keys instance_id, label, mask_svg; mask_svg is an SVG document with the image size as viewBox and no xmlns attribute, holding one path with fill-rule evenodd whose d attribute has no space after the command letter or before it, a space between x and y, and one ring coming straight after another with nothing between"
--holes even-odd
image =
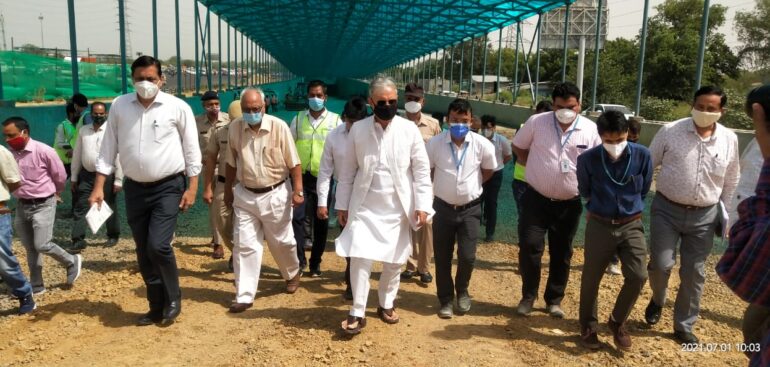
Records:
<instances>
[{"instance_id":1,"label":"white-shirted man in black trousers between pink-shirted man and tall man","mask_svg":"<svg viewBox=\"0 0 770 367\"><path fill-rule=\"evenodd\" d=\"M94 102L91 105L91 119L93 123L80 126L78 140L75 143L75 151L72 155L72 184L75 200L74 221L72 223L72 247L76 250L86 248L86 214L91 209L88 205L88 197L94 187L96 179L96 159L104 140L104 130L107 125L107 107L102 102ZM115 199L123 188L123 170L120 163L116 164L115 173L107 177L104 182L104 201L112 208L113 213L107 219L107 247L115 246L120 238L120 219Z\"/></svg>"}]
</instances>

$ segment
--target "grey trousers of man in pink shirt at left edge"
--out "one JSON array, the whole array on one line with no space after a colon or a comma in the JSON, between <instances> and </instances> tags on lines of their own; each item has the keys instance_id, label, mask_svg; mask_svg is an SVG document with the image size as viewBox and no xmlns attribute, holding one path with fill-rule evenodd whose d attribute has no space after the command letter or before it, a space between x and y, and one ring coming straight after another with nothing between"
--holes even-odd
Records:
<instances>
[{"instance_id":1,"label":"grey trousers of man in pink shirt at left edge","mask_svg":"<svg viewBox=\"0 0 770 367\"><path fill-rule=\"evenodd\" d=\"M43 257L46 254L65 267L75 263L75 256L64 251L53 239L53 223L56 218L56 198L39 203L25 204L19 200L16 206L16 233L27 249L29 282L32 288L43 287Z\"/></svg>"}]
</instances>

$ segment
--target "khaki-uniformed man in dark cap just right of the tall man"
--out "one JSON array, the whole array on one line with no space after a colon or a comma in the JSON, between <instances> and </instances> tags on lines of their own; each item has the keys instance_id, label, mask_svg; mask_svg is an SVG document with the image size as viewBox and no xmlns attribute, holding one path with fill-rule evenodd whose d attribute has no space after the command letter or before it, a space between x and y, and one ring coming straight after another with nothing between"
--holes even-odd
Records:
<instances>
[{"instance_id":1,"label":"khaki-uniformed man in dark cap just right of the tall man","mask_svg":"<svg viewBox=\"0 0 770 367\"><path fill-rule=\"evenodd\" d=\"M206 169L206 147L209 145L209 140L214 132L230 123L230 116L225 112L220 111L219 95L215 91L207 91L201 96L201 103L203 104L204 113L195 116L195 124L198 127L198 143L200 144L201 152L203 153L203 169ZM214 171L217 169L214 167ZM220 173L224 173L220 172ZM214 182L216 184L216 182ZM209 205L209 226L211 228L211 246L214 248L212 257L215 259L221 259L224 257L225 252L222 248L223 235L217 230L216 217L219 212L217 207Z\"/></svg>"}]
</instances>

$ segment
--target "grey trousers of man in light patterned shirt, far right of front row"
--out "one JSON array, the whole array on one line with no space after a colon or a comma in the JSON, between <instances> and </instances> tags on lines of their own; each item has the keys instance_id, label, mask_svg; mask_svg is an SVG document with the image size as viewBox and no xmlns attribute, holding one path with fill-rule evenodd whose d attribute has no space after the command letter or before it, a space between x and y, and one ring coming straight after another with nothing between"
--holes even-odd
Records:
<instances>
[{"instance_id":1,"label":"grey trousers of man in light patterned shirt, far right of front row","mask_svg":"<svg viewBox=\"0 0 770 367\"><path fill-rule=\"evenodd\" d=\"M652 300L666 303L668 279L676 264L679 245L679 293L674 303L674 330L692 332L700 312L700 298L706 281L704 264L714 246L718 208L688 210L660 195L650 207L650 288Z\"/></svg>"}]
</instances>

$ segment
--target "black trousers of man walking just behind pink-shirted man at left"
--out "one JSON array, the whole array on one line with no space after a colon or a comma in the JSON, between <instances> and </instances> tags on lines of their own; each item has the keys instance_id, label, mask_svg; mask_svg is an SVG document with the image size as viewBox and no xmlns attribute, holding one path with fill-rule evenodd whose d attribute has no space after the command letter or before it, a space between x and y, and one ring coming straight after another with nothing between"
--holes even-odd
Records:
<instances>
[{"instance_id":1,"label":"black trousers of man walking just behind pink-shirted man at left","mask_svg":"<svg viewBox=\"0 0 770 367\"><path fill-rule=\"evenodd\" d=\"M82 241L86 238L86 214L91 209L88 205L88 197L94 189L96 174L82 169L78 174L78 189L73 195L73 223L72 242ZM117 195L112 191L115 184L115 175L107 176L104 182L104 202L110 206L113 213L107 219L107 238L118 239L120 237L120 219L118 208L115 206Z\"/></svg>"}]
</instances>

